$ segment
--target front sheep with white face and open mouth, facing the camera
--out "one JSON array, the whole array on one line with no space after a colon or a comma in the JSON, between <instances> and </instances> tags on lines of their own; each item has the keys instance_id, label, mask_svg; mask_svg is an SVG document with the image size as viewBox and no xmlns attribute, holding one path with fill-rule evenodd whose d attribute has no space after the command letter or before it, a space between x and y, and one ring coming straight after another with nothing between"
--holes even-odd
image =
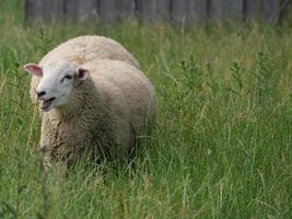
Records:
<instances>
[{"instance_id":1,"label":"front sheep with white face and open mouth, facing the camera","mask_svg":"<svg viewBox=\"0 0 292 219\"><path fill-rule=\"evenodd\" d=\"M24 69L40 78L36 93L44 111L40 148L48 151L47 165L61 162L67 169L83 151L94 160L103 154L125 158L137 136L147 135L155 122L154 89L132 65L61 60Z\"/></svg>"}]
</instances>

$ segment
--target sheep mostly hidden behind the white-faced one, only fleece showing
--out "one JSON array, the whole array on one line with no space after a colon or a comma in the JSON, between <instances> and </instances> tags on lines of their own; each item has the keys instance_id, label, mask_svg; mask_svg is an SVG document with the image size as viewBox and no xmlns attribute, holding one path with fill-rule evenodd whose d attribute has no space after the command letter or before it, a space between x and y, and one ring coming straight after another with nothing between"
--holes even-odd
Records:
<instances>
[{"instance_id":1,"label":"sheep mostly hidden behind the white-faced one, only fleece showing","mask_svg":"<svg viewBox=\"0 0 292 219\"><path fill-rule=\"evenodd\" d=\"M68 60L75 65L96 59L110 59L128 62L140 69L139 62L119 43L104 36L79 36L71 38L49 51L39 61L39 66L58 60ZM31 100L37 103L35 90L39 83L38 77L33 77L31 82Z\"/></svg>"}]
</instances>

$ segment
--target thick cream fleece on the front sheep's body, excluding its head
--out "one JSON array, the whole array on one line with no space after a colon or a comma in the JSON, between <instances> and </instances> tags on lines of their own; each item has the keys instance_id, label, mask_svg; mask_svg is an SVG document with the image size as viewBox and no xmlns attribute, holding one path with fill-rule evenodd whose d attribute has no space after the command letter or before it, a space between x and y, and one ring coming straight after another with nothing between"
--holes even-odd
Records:
<instances>
[{"instance_id":1,"label":"thick cream fleece on the front sheep's body, excluding its head","mask_svg":"<svg viewBox=\"0 0 292 219\"><path fill-rule=\"evenodd\" d=\"M44 113L40 146L47 163L74 162L82 151L126 155L156 116L156 97L147 77L132 65L94 60L81 66L89 78L74 81L69 102Z\"/></svg>"}]
</instances>

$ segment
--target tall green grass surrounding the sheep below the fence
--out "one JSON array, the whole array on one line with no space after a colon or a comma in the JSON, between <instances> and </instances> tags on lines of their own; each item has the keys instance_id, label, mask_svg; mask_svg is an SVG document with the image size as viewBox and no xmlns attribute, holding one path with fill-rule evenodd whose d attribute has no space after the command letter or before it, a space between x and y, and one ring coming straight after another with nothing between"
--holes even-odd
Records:
<instances>
[{"instance_id":1,"label":"tall green grass surrounding the sheep below the fence","mask_svg":"<svg viewBox=\"0 0 292 219\"><path fill-rule=\"evenodd\" d=\"M128 22L27 27L0 1L0 218L292 216L292 27ZM157 126L125 163L44 173L40 120L21 66L83 35L125 45L153 82Z\"/></svg>"}]
</instances>

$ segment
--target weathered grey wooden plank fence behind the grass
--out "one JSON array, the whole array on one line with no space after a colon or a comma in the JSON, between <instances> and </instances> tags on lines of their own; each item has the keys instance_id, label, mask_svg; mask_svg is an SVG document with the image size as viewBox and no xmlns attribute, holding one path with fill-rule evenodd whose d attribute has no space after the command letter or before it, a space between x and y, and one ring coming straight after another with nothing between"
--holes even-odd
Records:
<instances>
[{"instance_id":1,"label":"weathered grey wooden plank fence behind the grass","mask_svg":"<svg viewBox=\"0 0 292 219\"><path fill-rule=\"evenodd\" d=\"M138 18L179 25L259 18L275 23L291 4L292 0L25 0L25 18L45 22L98 19L105 24Z\"/></svg>"}]
</instances>

